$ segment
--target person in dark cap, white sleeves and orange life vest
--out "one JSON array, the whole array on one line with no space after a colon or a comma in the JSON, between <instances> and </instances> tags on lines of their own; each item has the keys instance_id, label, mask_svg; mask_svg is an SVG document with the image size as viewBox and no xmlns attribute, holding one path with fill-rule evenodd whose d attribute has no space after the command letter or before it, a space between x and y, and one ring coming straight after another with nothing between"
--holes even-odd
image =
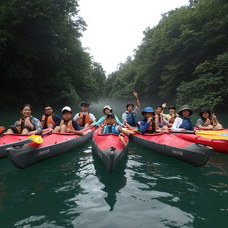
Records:
<instances>
[{"instance_id":1,"label":"person in dark cap, white sleeves and orange life vest","mask_svg":"<svg viewBox=\"0 0 228 228\"><path fill-rule=\"evenodd\" d=\"M96 118L92 113L88 112L89 104L88 103L81 103L81 112L77 113L73 120L76 121L79 126L82 127L89 127L92 123L96 122Z\"/></svg>"}]
</instances>

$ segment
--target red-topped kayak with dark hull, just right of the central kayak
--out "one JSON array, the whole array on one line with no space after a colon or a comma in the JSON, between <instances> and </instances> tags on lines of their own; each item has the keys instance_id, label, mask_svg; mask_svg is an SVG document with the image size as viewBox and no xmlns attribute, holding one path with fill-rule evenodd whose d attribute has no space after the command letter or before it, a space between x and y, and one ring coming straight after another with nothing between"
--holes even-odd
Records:
<instances>
[{"instance_id":1,"label":"red-topped kayak with dark hull, just right of the central kayak","mask_svg":"<svg viewBox=\"0 0 228 228\"><path fill-rule=\"evenodd\" d=\"M206 164L211 148L204 144L186 141L172 133L134 133L130 138L151 150L180 159L195 166Z\"/></svg>"}]
</instances>

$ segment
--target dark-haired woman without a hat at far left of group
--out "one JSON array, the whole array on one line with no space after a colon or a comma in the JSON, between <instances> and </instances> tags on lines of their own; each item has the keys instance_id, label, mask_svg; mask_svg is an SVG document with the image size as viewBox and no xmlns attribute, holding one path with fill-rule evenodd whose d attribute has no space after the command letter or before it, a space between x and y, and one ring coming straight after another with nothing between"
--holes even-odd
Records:
<instances>
[{"instance_id":1,"label":"dark-haired woman without a hat at far left of group","mask_svg":"<svg viewBox=\"0 0 228 228\"><path fill-rule=\"evenodd\" d=\"M33 117L32 107L30 104L25 104L21 107L22 117L17 120L9 129L4 133L7 134L23 134L35 135L42 134L43 129L40 121Z\"/></svg>"}]
</instances>

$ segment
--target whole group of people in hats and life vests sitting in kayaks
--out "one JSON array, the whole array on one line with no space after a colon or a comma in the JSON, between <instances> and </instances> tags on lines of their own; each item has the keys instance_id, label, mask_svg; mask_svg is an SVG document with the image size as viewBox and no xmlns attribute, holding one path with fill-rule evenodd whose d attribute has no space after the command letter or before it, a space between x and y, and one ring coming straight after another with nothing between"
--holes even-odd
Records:
<instances>
[{"instance_id":1,"label":"whole group of people in hats and life vests sitting in kayaks","mask_svg":"<svg viewBox=\"0 0 228 228\"><path fill-rule=\"evenodd\" d=\"M62 117L56 115L51 106L44 107L44 114L39 119L32 116L32 107L25 104L21 108L22 117L11 125L4 134L42 134L43 129L49 132L74 133L82 135L82 128L88 126L101 126L101 133L130 135L129 127L137 127L141 133L166 131L168 129L175 131L193 130L194 125L190 120L193 114L188 105L182 106L176 111L174 106L167 107L164 103L157 106L155 110L152 107L145 107L142 111L142 120L137 120L137 113L140 109L138 93L133 92L135 104L128 103L126 111L122 115L122 121L113 113L113 109L106 105L103 107L103 116L96 121L95 116L88 111L89 104L81 103L81 112L73 117L72 109L65 106L62 111ZM168 113L164 113L164 109ZM222 125L218 122L217 117L209 109L203 108L199 113L200 118L197 120L195 127L198 129L221 129Z\"/></svg>"}]
</instances>

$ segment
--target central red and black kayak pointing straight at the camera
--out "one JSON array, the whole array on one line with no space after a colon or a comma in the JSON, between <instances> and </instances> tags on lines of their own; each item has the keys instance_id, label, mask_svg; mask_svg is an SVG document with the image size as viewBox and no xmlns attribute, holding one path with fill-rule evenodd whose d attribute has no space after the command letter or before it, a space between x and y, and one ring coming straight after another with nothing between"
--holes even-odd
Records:
<instances>
[{"instance_id":1,"label":"central red and black kayak pointing straight at the camera","mask_svg":"<svg viewBox=\"0 0 228 228\"><path fill-rule=\"evenodd\" d=\"M106 168L112 172L125 154L129 137L113 133L101 134L100 132L99 127L93 133L92 149L101 158Z\"/></svg>"}]
</instances>

